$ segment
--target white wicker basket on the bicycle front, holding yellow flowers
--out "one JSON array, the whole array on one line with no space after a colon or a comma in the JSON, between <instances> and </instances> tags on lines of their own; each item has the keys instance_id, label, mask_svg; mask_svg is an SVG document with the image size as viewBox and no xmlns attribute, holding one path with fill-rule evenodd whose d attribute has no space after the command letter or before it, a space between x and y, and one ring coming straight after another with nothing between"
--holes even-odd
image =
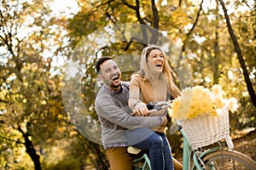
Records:
<instances>
[{"instance_id":1,"label":"white wicker basket on the bicycle front, holding yellow flowers","mask_svg":"<svg viewBox=\"0 0 256 170\"><path fill-rule=\"evenodd\" d=\"M195 148L213 144L221 139L226 139L228 143L230 141L229 110L224 107L218 111L218 116L206 113L194 119L187 119L183 122L183 130L188 136L189 143Z\"/></svg>"}]
</instances>

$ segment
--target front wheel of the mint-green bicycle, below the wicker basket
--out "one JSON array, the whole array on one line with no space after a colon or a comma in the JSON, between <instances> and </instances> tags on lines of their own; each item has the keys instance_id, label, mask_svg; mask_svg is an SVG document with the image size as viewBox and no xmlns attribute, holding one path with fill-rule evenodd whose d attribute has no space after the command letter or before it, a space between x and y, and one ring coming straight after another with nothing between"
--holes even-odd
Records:
<instances>
[{"instance_id":1,"label":"front wheel of the mint-green bicycle, below the wicker basket","mask_svg":"<svg viewBox=\"0 0 256 170\"><path fill-rule=\"evenodd\" d=\"M202 158L206 169L256 169L256 163L236 150L217 150Z\"/></svg>"}]
</instances>

